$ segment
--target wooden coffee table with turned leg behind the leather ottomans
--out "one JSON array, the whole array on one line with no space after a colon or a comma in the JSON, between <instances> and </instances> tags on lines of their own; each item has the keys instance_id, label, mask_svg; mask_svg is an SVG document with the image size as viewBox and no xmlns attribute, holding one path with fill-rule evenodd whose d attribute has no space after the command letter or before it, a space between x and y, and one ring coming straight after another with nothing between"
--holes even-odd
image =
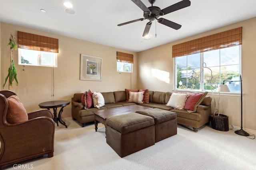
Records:
<instances>
[{"instance_id":1,"label":"wooden coffee table with turned leg behind the leather ottomans","mask_svg":"<svg viewBox=\"0 0 256 170\"><path fill-rule=\"evenodd\" d=\"M123 107L115 107L112 109L94 110L92 112L94 113L95 131L97 131L98 129L98 122L102 123L106 128L106 119L108 119L108 117L135 112L137 110L146 110L146 109L152 109L152 108L134 104L134 105L123 106Z\"/></svg>"}]
</instances>

